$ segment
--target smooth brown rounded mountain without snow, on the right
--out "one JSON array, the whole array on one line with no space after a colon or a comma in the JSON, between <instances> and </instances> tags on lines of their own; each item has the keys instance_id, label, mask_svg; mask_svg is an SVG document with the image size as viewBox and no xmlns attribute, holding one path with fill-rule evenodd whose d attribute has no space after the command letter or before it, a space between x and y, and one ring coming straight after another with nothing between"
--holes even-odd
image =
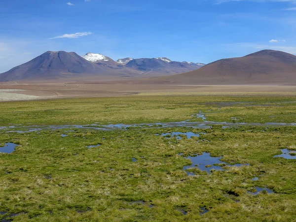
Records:
<instances>
[{"instance_id":1,"label":"smooth brown rounded mountain without snow, on the right","mask_svg":"<svg viewBox=\"0 0 296 222\"><path fill-rule=\"evenodd\" d=\"M244 57L222 59L198 70L148 82L172 84L295 84L296 56L262 50Z\"/></svg>"}]
</instances>

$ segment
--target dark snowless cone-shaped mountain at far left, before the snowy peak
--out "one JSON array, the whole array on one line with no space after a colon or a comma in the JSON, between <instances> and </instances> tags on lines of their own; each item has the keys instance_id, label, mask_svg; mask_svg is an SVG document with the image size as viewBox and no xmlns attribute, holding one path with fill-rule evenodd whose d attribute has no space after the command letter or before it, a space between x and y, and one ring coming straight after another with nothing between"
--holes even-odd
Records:
<instances>
[{"instance_id":1,"label":"dark snowless cone-shaped mountain at far left, before the snowy peak","mask_svg":"<svg viewBox=\"0 0 296 222\"><path fill-rule=\"evenodd\" d=\"M44 80L93 76L136 75L122 66L122 69L103 66L87 61L75 52L47 51L35 59L0 74L0 81Z\"/></svg>"}]
</instances>

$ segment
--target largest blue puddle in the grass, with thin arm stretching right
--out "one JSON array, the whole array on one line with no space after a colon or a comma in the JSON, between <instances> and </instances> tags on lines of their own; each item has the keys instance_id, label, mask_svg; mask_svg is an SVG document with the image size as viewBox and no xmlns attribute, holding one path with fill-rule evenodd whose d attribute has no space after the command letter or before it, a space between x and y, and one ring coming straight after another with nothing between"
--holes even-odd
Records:
<instances>
[{"instance_id":1,"label":"largest blue puddle in the grass, with thin arm stretching right","mask_svg":"<svg viewBox=\"0 0 296 222\"><path fill-rule=\"evenodd\" d=\"M191 168L199 168L202 171L207 171L208 174L212 173L213 170L220 170L224 171L223 167L225 166L248 166L249 164L227 164L225 162L222 162L220 157L212 157L211 153L208 152L203 152L201 155L196 155L196 156L187 156L187 159L190 159L192 164L190 166L185 166L183 170L191 169ZM187 172L188 176L195 175L194 173Z\"/></svg>"}]
</instances>

